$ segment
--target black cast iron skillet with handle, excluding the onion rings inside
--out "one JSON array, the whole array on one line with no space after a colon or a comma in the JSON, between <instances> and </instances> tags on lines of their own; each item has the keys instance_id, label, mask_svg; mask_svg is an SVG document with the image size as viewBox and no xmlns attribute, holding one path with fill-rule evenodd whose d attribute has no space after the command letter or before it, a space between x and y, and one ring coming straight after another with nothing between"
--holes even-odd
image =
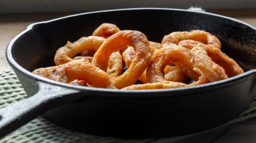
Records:
<instances>
[{"instance_id":1,"label":"black cast iron skillet with handle, excluding the onion rings inside","mask_svg":"<svg viewBox=\"0 0 256 143\"><path fill-rule=\"evenodd\" d=\"M205 30L220 39L222 51L246 72L195 87L128 91L69 85L31 73L53 66L59 47L92 35L102 23L141 31L155 42L173 31ZM120 138L171 137L220 126L238 117L254 98L255 40L252 25L181 9L107 10L31 24L6 49L29 98L0 110L1 137L39 115L75 131Z\"/></svg>"}]
</instances>

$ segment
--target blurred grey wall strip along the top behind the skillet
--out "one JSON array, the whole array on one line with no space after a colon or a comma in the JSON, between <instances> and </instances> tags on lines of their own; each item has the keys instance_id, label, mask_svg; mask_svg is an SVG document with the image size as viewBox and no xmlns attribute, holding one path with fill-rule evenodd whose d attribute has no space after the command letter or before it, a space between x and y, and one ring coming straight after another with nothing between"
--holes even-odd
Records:
<instances>
[{"instance_id":1,"label":"blurred grey wall strip along the top behind the skillet","mask_svg":"<svg viewBox=\"0 0 256 143\"><path fill-rule=\"evenodd\" d=\"M88 12L118 8L256 8L256 0L0 0L1 13Z\"/></svg>"}]
</instances>

